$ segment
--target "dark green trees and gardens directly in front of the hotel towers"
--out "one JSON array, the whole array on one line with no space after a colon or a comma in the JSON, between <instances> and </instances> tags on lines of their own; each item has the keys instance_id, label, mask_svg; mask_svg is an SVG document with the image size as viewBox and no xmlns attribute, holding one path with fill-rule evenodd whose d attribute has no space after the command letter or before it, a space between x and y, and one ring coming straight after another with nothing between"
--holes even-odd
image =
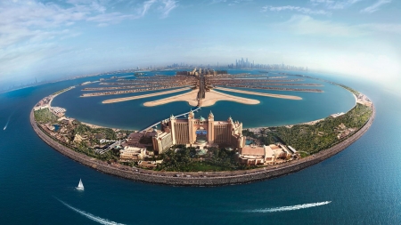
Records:
<instances>
[{"instance_id":1,"label":"dark green trees and gardens directly in front of the hotel towers","mask_svg":"<svg viewBox=\"0 0 401 225\"><path fill-rule=\"evenodd\" d=\"M173 146L168 151L160 154L158 159L163 163L158 165L158 171L176 172L217 172L233 171L248 168L238 165L235 151L227 149L209 148L205 156L198 156L194 148L186 148L183 145Z\"/></svg>"}]
</instances>

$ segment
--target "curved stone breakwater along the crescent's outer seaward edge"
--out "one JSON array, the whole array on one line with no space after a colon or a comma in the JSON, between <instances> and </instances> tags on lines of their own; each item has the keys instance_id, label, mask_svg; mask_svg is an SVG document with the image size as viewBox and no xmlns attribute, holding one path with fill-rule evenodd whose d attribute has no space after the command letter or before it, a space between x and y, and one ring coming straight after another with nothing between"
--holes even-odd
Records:
<instances>
[{"instance_id":1,"label":"curved stone breakwater along the crescent's outer seaward edge","mask_svg":"<svg viewBox=\"0 0 401 225\"><path fill-rule=\"evenodd\" d=\"M348 139L332 146L330 149L322 150L315 155L303 157L298 160L282 165L271 165L257 169L234 171L234 172L215 172L215 173L177 173L177 172L157 172L130 167L126 165L108 165L106 162L87 157L70 149L60 142L47 135L35 121L33 110L30 112L29 120L32 128L37 135L53 149L59 151L66 157L92 167L102 173L119 176L133 181L142 181L155 184L174 185L174 186L220 186L248 183L252 181L262 181L272 179L289 173L295 173L308 166L322 162L324 159L332 157L341 150L346 149L353 142L358 140L370 128L375 117L375 108L372 106L372 115L369 120L353 133Z\"/></svg>"}]
</instances>

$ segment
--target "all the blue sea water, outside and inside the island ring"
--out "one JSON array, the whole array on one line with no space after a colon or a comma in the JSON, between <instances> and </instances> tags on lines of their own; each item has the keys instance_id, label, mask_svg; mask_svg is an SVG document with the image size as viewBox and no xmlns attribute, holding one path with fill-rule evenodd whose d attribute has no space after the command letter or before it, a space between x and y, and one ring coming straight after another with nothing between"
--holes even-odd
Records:
<instances>
[{"instance_id":1,"label":"all the blue sea water, outside and inside the island ring","mask_svg":"<svg viewBox=\"0 0 401 225\"><path fill-rule=\"evenodd\" d=\"M29 125L29 111L37 101L99 77L2 93L0 224L401 223L401 91L345 76L305 75L347 84L369 96L376 107L370 130L340 154L299 173L214 188L120 179L80 165L41 141ZM255 108L217 102L211 110L217 119L231 115L252 127L307 122L347 111L355 103L336 86L324 84L322 89L323 94L288 92L304 98L298 103L260 98L262 104ZM99 103L102 97L83 101L79 94L78 89L65 92L53 106L67 108L69 117L111 127L137 129L190 108L176 102L149 109L140 106L142 100L111 104L109 109ZM200 115L207 116L209 109L203 108ZM85 191L75 189L79 179Z\"/></svg>"}]
</instances>

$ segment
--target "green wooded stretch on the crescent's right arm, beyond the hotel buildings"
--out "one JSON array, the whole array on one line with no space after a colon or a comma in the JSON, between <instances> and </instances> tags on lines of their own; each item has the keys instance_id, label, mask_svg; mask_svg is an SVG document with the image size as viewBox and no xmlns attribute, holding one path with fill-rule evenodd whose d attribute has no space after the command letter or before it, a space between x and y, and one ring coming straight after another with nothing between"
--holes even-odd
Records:
<instances>
[{"instance_id":1,"label":"green wooded stretch on the crescent's right arm, beyond the hotel buildings","mask_svg":"<svg viewBox=\"0 0 401 225\"><path fill-rule=\"evenodd\" d=\"M327 117L315 125L294 125L291 128L286 126L272 127L262 131L260 135L243 132L250 137L258 137L258 141L270 144L277 141L290 145L300 152L301 157L314 154L323 149L328 149L342 140L339 139L340 133L345 133L344 137L355 133L371 117L372 108L362 104L356 104L355 108L340 117Z\"/></svg>"}]
</instances>

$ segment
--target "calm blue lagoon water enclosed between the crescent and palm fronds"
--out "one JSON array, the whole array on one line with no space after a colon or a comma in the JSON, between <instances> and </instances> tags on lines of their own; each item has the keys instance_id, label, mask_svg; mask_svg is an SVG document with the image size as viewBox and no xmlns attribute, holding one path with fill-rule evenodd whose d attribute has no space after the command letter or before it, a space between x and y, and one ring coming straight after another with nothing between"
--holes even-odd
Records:
<instances>
[{"instance_id":1,"label":"calm blue lagoon water enclosed between the crescent and palm fronds","mask_svg":"<svg viewBox=\"0 0 401 225\"><path fill-rule=\"evenodd\" d=\"M232 70L230 72L233 74L242 72L252 72L258 74L258 70ZM171 71L168 71L168 74L171 73ZM285 79L294 78L299 77L288 76ZM283 92L258 89L250 90L253 92L269 92L302 97L302 100L283 100L218 90L219 92L225 92L235 96L259 100L260 104L243 105L241 103L232 101L217 101L217 103L213 106L203 107L200 112L195 114L195 117L207 117L209 112L212 111L215 116L215 120L226 120L229 116L231 116L234 120L241 121L245 128L257 126L293 125L328 117L333 113L347 112L355 105L355 99L352 94L347 90L340 88L339 86L307 78L305 81L299 83L323 84L324 86L312 88L322 89L324 92ZM180 115L184 112L188 112L191 109L191 106L184 101L172 102L156 107L143 106L143 102L160 100L162 98L167 98L183 92L112 104L102 104L102 100L142 95L150 92L116 94L86 98L79 97L82 93L85 93L81 91L83 88L98 86L99 84L78 86L69 92L64 92L57 96L53 100L52 105L67 108L66 115L68 117L74 117L86 123L134 130L142 130L149 125L160 122L160 120L169 117L171 114Z\"/></svg>"}]
</instances>

